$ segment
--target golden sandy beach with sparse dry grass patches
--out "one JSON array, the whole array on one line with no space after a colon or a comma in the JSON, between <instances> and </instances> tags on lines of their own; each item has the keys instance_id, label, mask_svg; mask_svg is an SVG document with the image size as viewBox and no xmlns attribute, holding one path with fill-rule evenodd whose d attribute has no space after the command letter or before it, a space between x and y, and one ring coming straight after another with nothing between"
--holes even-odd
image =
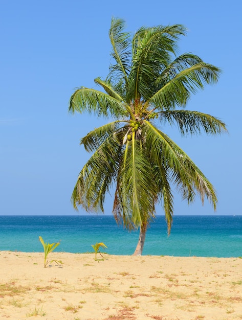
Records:
<instances>
[{"instance_id":1,"label":"golden sandy beach with sparse dry grass patches","mask_svg":"<svg viewBox=\"0 0 242 320\"><path fill-rule=\"evenodd\" d=\"M242 319L242 259L0 252L0 318Z\"/></svg>"}]
</instances>

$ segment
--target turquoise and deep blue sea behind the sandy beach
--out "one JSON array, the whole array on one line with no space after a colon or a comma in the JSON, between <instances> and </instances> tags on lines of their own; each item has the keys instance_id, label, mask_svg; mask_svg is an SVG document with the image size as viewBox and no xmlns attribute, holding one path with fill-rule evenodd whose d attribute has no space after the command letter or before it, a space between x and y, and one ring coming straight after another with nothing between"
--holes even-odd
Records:
<instances>
[{"instance_id":1,"label":"turquoise and deep blue sea behind the sandy beach","mask_svg":"<svg viewBox=\"0 0 242 320\"><path fill-rule=\"evenodd\" d=\"M93 252L103 242L110 255L134 253L139 231L128 232L113 216L0 216L0 250L42 252L45 242L60 241L56 252ZM143 255L241 257L242 216L174 216L170 236L164 216L147 231Z\"/></svg>"}]
</instances>

